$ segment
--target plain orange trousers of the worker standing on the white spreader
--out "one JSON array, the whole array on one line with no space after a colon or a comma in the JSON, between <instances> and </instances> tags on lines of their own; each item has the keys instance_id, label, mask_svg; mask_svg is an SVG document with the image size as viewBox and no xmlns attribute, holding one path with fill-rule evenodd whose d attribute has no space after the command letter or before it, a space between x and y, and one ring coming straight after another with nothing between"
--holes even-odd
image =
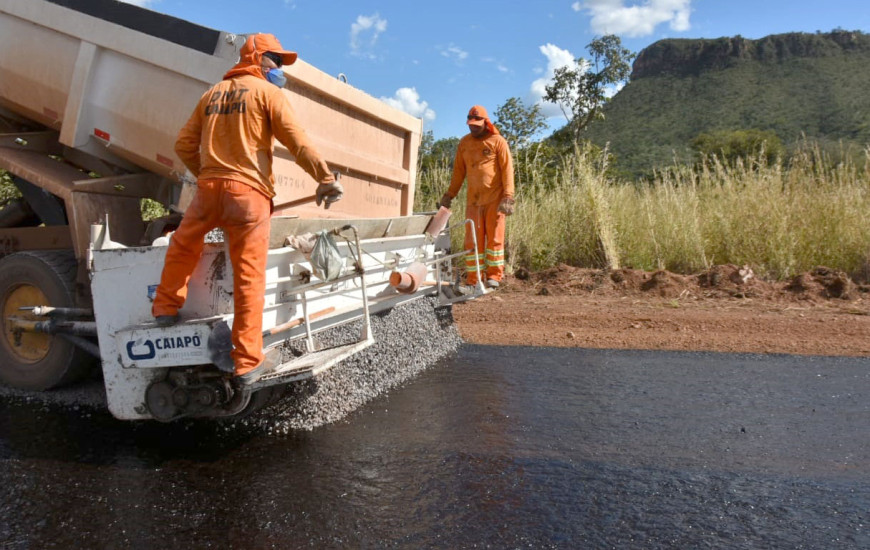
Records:
<instances>
[{"instance_id":1,"label":"plain orange trousers of the worker standing on the white spreader","mask_svg":"<svg viewBox=\"0 0 870 550\"><path fill-rule=\"evenodd\" d=\"M233 349L236 375L256 368L263 355L263 306L266 256L272 201L239 181L206 179L197 191L181 225L169 241L160 286L151 313L175 315L187 298L187 283L199 262L206 233L224 231L233 266Z\"/></svg>"}]
</instances>

